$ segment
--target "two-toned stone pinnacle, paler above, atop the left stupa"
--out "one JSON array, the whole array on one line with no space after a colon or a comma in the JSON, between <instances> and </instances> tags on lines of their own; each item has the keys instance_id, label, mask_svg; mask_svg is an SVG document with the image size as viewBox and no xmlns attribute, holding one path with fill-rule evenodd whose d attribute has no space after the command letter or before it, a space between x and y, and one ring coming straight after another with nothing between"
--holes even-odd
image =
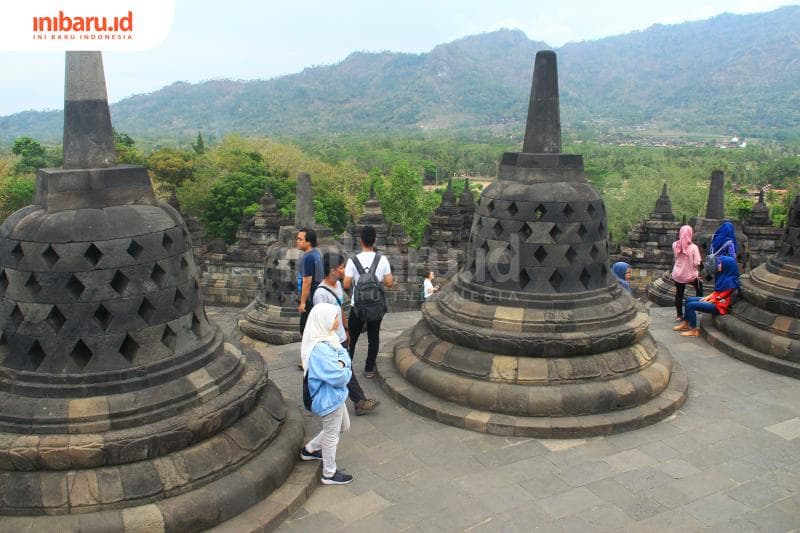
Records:
<instances>
[{"instance_id":1,"label":"two-toned stone pinnacle, paler above, atop the left stupa","mask_svg":"<svg viewBox=\"0 0 800 533\"><path fill-rule=\"evenodd\" d=\"M64 168L116 164L103 56L67 52L64 82Z\"/></svg>"}]
</instances>

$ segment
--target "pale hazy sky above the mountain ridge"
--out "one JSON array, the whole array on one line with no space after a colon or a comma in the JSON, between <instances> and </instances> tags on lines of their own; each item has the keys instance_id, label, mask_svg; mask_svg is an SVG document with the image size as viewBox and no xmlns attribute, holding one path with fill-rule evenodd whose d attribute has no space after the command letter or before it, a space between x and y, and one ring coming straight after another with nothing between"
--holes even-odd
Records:
<instances>
[{"instance_id":1,"label":"pale hazy sky above the mountain ridge","mask_svg":"<svg viewBox=\"0 0 800 533\"><path fill-rule=\"evenodd\" d=\"M272 78L356 50L426 52L503 27L557 47L790 4L800 0L177 0L161 45L104 62L114 102L174 81ZM63 64L62 52L0 52L0 116L61 108Z\"/></svg>"}]
</instances>

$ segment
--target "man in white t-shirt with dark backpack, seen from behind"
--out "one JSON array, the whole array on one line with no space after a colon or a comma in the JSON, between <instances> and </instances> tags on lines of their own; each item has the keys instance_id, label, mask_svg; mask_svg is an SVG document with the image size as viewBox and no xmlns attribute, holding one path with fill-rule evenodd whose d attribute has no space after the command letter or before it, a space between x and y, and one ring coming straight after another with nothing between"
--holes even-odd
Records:
<instances>
[{"instance_id":1,"label":"man in white t-shirt with dark backpack, seen from behind","mask_svg":"<svg viewBox=\"0 0 800 533\"><path fill-rule=\"evenodd\" d=\"M380 345L380 330L383 313L386 312L386 298L383 296L383 287L391 289L394 285L392 269L386 256L375 252L375 228L364 226L361 228L359 238L361 252L347 260L344 269L344 288L353 289L350 303L350 355L355 356L356 343L361 336L361 332L367 329L367 360L364 363L364 376L367 379L375 377L375 362L378 359L378 346ZM364 276L369 279L364 280ZM364 287L359 287L359 283L364 281ZM371 290L361 291L366 288L366 283L370 284ZM374 285L374 287L373 287ZM359 304L358 294L361 292L362 298L370 297L369 302L362 301ZM380 292L380 295L376 295ZM375 311L375 307L380 307L377 298L383 298L383 312ZM367 304L371 307L367 309ZM361 305L361 307L359 307Z\"/></svg>"}]
</instances>

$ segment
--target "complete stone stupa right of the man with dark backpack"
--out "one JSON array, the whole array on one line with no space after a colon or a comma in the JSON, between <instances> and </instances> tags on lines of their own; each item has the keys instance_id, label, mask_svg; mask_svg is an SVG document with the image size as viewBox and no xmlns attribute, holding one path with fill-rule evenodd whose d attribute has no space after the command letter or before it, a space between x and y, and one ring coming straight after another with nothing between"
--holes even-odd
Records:
<instances>
[{"instance_id":1,"label":"complete stone stupa right of the man with dark backpack","mask_svg":"<svg viewBox=\"0 0 800 533\"><path fill-rule=\"evenodd\" d=\"M379 358L384 390L476 431L584 437L674 413L687 376L610 271L605 207L561 153L556 56L539 52L523 151L481 194L466 264Z\"/></svg>"}]
</instances>

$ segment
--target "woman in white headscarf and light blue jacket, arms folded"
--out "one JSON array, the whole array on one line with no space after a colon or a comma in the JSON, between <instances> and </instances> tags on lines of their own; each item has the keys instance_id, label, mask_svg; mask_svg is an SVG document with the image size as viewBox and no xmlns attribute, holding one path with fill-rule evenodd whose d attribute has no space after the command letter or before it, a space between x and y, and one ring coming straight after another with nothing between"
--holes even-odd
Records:
<instances>
[{"instance_id":1,"label":"woman in white headscarf and light blue jacket, arms folded","mask_svg":"<svg viewBox=\"0 0 800 533\"><path fill-rule=\"evenodd\" d=\"M336 468L339 434L350 429L347 412L347 382L350 381L350 355L342 348L336 330L339 308L316 304L308 315L300 346L303 369L308 373L311 412L322 418L322 431L300 450L304 461L322 460L322 483L345 485L353 476Z\"/></svg>"}]
</instances>

